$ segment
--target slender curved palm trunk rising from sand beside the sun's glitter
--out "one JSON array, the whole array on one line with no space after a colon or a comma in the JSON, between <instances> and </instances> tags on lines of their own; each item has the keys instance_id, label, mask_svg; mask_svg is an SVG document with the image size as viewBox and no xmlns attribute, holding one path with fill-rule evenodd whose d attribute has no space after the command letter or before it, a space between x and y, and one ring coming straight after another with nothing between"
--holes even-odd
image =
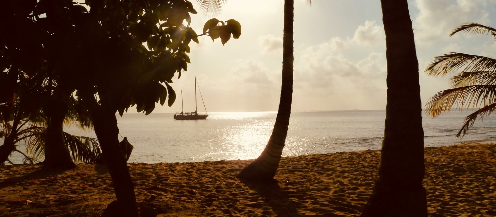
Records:
<instances>
[{"instance_id":1,"label":"slender curved palm trunk rising from sand beside the sun's glitter","mask_svg":"<svg viewBox=\"0 0 496 217\"><path fill-rule=\"evenodd\" d=\"M288 135L293 96L294 0L284 0L282 86L276 123L262 154L238 174L241 179L273 179Z\"/></svg>"}]
</instances>

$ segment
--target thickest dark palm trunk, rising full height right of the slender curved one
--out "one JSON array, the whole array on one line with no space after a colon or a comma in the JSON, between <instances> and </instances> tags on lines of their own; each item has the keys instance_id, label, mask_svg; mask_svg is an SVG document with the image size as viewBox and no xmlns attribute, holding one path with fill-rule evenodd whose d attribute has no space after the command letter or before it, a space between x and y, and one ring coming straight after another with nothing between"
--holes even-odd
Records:
<instances>
[{"instance_id":1,"label":"thickest dark palm trunk, rising full height right of the slender curved one","mask_svg":"<svg viewBox=\"0 0 496 217\"><path fill-rule=\"evenodd\" d=\"M407 0L381 0L387 105L375 184L362 217L427 217L419 68Z\"/></svg>"}]
</instances>

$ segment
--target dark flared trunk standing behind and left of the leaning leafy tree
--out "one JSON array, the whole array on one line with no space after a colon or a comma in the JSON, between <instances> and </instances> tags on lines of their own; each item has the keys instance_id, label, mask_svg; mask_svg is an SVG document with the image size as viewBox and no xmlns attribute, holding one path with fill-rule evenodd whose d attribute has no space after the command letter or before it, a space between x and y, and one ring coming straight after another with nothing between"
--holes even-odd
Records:
<instances>
[{"instance_id":1,"label":"dark flared trunk standing behind and left of the leaning leafy tree","mask_svg":"<svg viewBox=\"0 0 496 217\"><path fill-rule=\"evenodd\" d=\"M46 168L71 169L76 165L72 161L69 149L65 145L63 123L67 114L67 105L62 100L51 100L45 107L47 130L45 135Z\"/></svg>"}]
</instances>

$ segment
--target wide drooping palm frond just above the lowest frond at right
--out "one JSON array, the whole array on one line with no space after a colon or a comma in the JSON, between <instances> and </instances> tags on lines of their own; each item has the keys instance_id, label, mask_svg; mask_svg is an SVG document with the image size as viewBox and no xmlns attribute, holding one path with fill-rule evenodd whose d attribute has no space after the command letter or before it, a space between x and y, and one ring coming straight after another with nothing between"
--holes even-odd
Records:
<instances>
[{"instance_id":1,"label":"wide drooping palm frond just above the lowest frond at right","mask_svg":"<svg viewBox=\"0 0 496 217\"><path fill-rule=\"evenodd\" d=\"M447 89L436 93L426 104L432 117L449 111L454 104L460 109L489 105L496 101L496 85L472 85Z\"/></svg>"}]
</instances>

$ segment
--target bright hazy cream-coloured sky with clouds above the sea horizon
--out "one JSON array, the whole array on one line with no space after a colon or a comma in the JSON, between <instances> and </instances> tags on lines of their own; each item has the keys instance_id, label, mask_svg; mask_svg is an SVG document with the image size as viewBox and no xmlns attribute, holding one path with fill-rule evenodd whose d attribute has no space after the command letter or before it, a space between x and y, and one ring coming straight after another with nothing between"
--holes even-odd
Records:
<instances>
[{"instance_id":1,"label":"bright hazy cream-coloured sky with clouds above the sea horizon","mask_svg":"<svg viewBox=\"0 0 496 217\"><path fill-rule=\"evenodd\" d=\"M192 0L194 2L194 0ZM172 87L172 107L154 112L194 111L197 77L207 112L277 111L281 91L284 0L228 0L209 15L196 7L191 27L200 34L211 18L241 23L239 39L225 45L203 36L191 42L191 64ZM493 0L408 0L413 20L423 107L448 89L449 77L424 72L435 57L462 52L495 57L491 36L449 33L476 22L496 27ZM386 108L385 35L379 0L295 0L292 111ZM204 112L198 93L198 112ZM134 108L133 108L134 109ZM130 111L133 111L131 109ZM135 110L134 110L135 111Z\"/></svg>"}]
</instances>

